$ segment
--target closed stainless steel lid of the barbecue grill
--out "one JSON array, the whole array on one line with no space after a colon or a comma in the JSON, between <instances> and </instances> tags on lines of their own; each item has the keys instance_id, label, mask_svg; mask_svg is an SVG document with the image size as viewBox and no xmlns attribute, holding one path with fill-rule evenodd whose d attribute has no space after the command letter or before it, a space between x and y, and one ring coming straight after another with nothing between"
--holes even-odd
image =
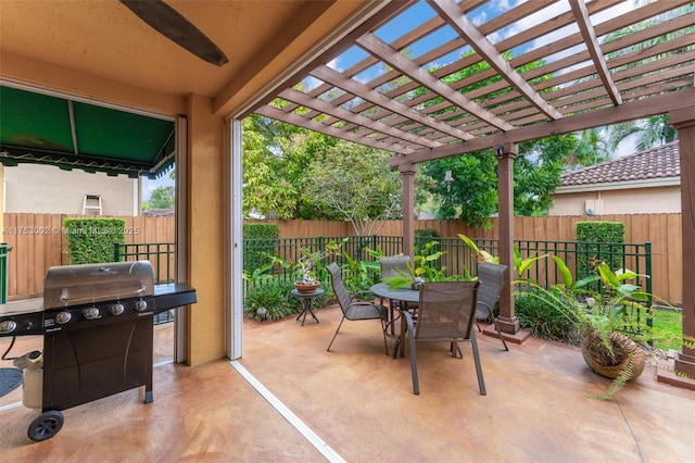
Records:
<instances>
[{"instance_id":1,"label":"closed stainless steel lid of the barbecue grill","mask_svg":"<svg viewBox=\"0 0 695 463\"><path fill-rule=\"evenodd\" d=\"M149 261L52 266L46 274L46 310L154 295Z\"/></svg>"}]
</instances>

